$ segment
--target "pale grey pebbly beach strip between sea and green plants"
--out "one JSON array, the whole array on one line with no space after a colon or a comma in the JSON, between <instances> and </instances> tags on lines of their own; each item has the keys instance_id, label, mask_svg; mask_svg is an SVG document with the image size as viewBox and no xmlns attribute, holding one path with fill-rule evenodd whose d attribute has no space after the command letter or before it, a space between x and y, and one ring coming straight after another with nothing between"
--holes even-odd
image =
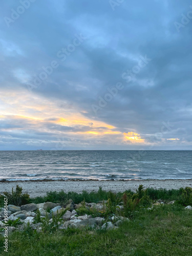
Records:
<instances>
[{"instance_id":1,"label":"pale grey pebbly beach strip between sea and green plants","mask_svg":"<svg viewBox=\"0 0 192 256\"><path fill-rule=\"evenodd\" d=\"M99 186L104 190L111 190L114 192L124 191L131 189L133 191L138 188L139 184L144 187L153 188L165 188L165 189L178 189L180 187L192 186L192 180L130 180L130 181L11 181L0 182L0 193L3 191L11 191L12 187L16 187L16 184L23 187L23 192L28 193L30 197L44 196L48 191L60 191L64 190L75 191L81 193L82 190L88 192L97 191Z\"/></svg>"}]
</instances>

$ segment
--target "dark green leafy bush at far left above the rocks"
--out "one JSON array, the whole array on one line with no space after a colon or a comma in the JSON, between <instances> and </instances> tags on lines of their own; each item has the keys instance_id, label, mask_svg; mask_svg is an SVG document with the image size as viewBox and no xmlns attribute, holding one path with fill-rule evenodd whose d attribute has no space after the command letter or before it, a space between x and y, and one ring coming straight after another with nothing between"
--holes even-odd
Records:
<instances>
[{"instance_id":1,"label":"dark green leafy bush at far left above the rocks","mask_svg":"<svg viewBox=\"0 0 192 256\"><path fill-rule=\"evenodd\" d=\"M19 187L19 185L16 185L15 191L13 190L13 187L12 187L11 193L4 192L3 194L8 199L9 204L21 206L23 204L28 204L30 202L29 194L27 193L22 194L22 190L23 190L22 187ZM1 197L3 196L1 195Z\"/></svg>"}]
</instances>

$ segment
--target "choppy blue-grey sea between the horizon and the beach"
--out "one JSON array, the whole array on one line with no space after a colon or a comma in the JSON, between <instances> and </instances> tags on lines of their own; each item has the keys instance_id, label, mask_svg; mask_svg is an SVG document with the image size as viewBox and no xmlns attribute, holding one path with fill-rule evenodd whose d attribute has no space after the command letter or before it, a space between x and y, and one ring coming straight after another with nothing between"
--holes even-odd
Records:
<instances>
[{"instance_id":1,"label":"choppy blue-grey sea between the horizon and the beach","mask_svg":"<svg viewBox=\"0 0 192 256\"><path fill-rule=\"evenodd\" d=\"M192 179L192 151L0 151L0 180Z\"/></svg>"}]
</instances>

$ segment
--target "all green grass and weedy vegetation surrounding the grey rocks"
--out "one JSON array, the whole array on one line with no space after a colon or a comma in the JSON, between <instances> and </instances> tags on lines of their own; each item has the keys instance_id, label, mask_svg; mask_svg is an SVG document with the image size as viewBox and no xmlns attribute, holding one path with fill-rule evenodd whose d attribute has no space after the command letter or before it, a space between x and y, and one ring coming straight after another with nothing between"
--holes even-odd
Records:
<instances>
[{"instance_id":1,"label":"all green grass and weedy vegetation surrounding the grey rocks","mask_svg":"<svg viewBox=\"0 0 192 256\"><path fill-rule=\"evenodd\" d=\"M192 205L192 188L186 187L178 190L171 189L144 189L139 186L136 193L126 190L124 193L112 193L99 188L97 192L81 194L74 192L65 193L49 192L46 197L30 199L27 194L22 194L22 188L17 187L7 194L9 200L17 202L26 198L29 202L41 203L51 201L66 205L70 200L76 204L81 203L79 214L92 214L93 217L105 217L116 214L116 205L123 203L122 216L129 217L130 222L124 222L118 229L68 229L59 230L60 216L53 218L50 225L49 219L42 221L42 232L38 233L28 226L24 231L14 231L9 234L9 249L7 255L192 255L192 210L184 209ZM152 200L165 202L176 200L175 204L161 204L147 210L152 205ZM96 212L87 209L85 202L103 202L103 211ZM104 209L105 205L105 209ZM38 213L38 211L37 211ZM37 214L36 219L39 219ZM39 220L36 220L39 222ZM17 223L11 223L16 226ZM4 253L4 237L0 237L0 255Z\"/></svg>"}]
</instances>

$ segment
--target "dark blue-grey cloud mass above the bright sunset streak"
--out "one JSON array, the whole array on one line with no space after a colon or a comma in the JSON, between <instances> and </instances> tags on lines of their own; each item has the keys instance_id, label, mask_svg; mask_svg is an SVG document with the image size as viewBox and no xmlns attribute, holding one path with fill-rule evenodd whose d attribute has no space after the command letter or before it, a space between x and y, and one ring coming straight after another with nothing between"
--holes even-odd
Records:
<instances>
[{"instance_id":1,"label":"dark blue-grey cloud mass above the bright sunset streak","mask_svg":"<svg viewBox=\"0 0 192 256\"><path fill-rule=\"evenodd\" d=\"M157 135L169 122L165 137L191 142L192 20L180 32L175 26L182 22L182 13L191 10L190 4L139 0L112 8L110 1L101 0L35 1L8 28L4 18L11 17L11 9L17 10L20 2L6 2L1 9L0 86L27 91L34 75L44 72L42 66L57 61L58 67L32 94L61 99L88 118L114 125L122 133L135 131L150 142L161 141ZM86 39L70 52L69 45L80 34ZM58 57L62 48L68 49L64 61ZM137 66L140 56L151 61L127 83L122 74ZM117 82L123 89L95 113L92 105L99 106L99 97Z\"/></svg>"}]
</instances>

